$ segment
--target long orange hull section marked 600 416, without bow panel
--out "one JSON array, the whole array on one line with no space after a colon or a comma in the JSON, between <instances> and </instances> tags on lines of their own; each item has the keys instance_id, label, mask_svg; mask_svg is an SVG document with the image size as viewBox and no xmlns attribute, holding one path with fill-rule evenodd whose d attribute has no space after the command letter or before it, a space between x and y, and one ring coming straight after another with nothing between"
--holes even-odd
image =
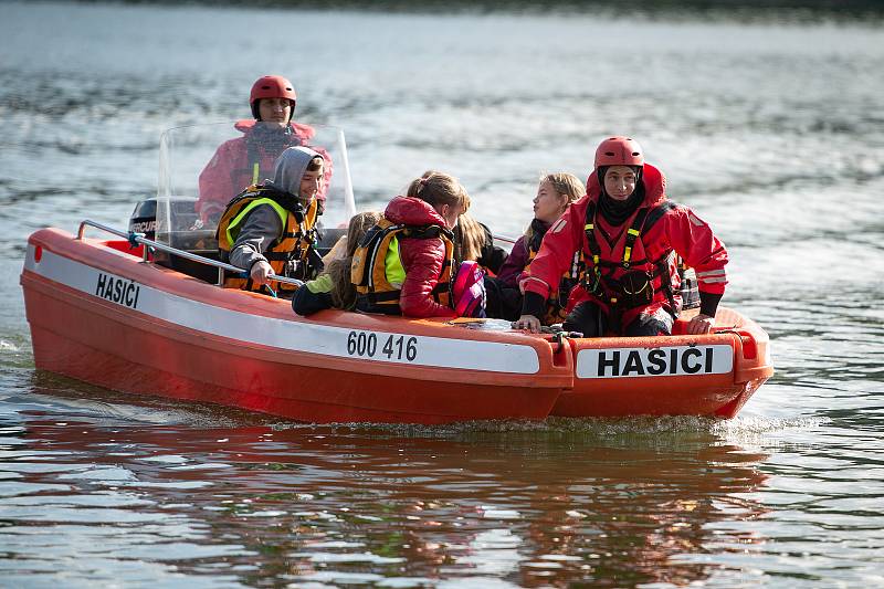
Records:
<instances>
[{"instance_id":1,"label":"long orange hull section marked 600 416, without bow panel","mask_svg":"<svg viewBox=\"0 0 884 589\"><path fill-rule=\"evenodd\" d=\"M53 230L32 236L28 256L21 282L36 367L115 390L312 422L444 423L541 419L570 385L570 357L554 358L535 338L501 341L444 322L339 312L320 314L320 325L295 316L287 301L217 288ZM286 341L328 326L341 350ZM376 356L391 339L392 361L358 348L371 336ZM410 339L427 361L408 361ZM445 356L457 341L472 346L466 364L517 348L536 366L472 370Z\"/></svg>"}]
</instances>

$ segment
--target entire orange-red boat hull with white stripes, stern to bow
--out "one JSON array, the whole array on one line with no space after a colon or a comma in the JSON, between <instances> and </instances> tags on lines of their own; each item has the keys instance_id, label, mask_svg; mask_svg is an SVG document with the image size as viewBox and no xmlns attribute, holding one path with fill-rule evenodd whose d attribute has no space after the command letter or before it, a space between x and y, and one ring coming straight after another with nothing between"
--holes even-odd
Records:
<instances>
[{"instance_id":1,"label":"entire orange-red boat hull with white stripes, stern to bow","mask_svg":"<svg viewBox=\"0 0 884 589\"><path fill-rule=\"evenodd\" d=\"M738 314L722 318L738 327L714 336L564 341L499 322L336 311L303 318L286 301L219 288L126 250L53 229L31 235L21 284L38 368L301 421L427 424L733 417L772 374L766 334ZM680 351L653 351L661 347ZM706 348L713 359L697 356ZM641 361L630 351L639 349ZM592 360L599 351L608 356ZM661 355L667 372L648 374Z\"/></svg>"}]
</instances>

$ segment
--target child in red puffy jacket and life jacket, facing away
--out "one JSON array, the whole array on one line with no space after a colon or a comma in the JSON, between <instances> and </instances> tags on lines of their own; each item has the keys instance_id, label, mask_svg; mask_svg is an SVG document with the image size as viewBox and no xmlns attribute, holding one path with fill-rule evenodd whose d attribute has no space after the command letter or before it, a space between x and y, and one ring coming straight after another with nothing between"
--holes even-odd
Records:
<instances>
[{"instance_id":1,"label":"child in red puffy jacket and life jacket, facing away","mask_svg":"<svg viewBox=\"0 0 884 589\"><path fill-rule=\"evenodd\" d=\"M351 278L357 311L408 317L454 317L449 301L451 230L470 206L456 178L432 172L387 206L362 239ZM375 255L367 259L368 252Z\"/></svg>"}]
</instances>

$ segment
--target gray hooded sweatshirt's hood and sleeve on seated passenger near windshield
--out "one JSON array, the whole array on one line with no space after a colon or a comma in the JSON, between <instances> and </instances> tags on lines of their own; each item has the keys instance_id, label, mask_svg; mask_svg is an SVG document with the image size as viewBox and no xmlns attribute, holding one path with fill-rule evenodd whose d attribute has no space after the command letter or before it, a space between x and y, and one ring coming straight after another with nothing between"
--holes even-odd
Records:
<instances>
[{"instance_id":1,"label":"gray hooded sweatshirt's hood and sleeve on seated passenger near windshield","mask_svg":"<svg viewBox=\"0 0 884 589\"><path fill-rule=\"evenodd\" d=\"M288 192L301 198L301 179L307 170L307 165L319 154L308 147L297 146L285 149L273 169L273 180L264 180L264 185ZM251 270L252 264L261 260L271 243L283 234L283 223L280 215L270 204L259 204L241 221L242 229L236 236L236 242L230 250L230 263L234 266Z\"/></svg>"}]
</instances>

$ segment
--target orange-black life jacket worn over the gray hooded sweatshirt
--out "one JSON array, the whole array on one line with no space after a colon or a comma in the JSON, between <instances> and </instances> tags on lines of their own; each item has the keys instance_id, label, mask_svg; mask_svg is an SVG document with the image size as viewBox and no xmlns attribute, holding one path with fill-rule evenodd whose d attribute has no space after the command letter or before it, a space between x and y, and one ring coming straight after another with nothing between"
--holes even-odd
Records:
<instances>
[{"instance_id":1,"label":"orange-black life jacket worn over the gray hooded sweatshirt","mask_svg":"<svg viewBox=\"0 0 884 589\"><path fill-rule=\"evenodd\" d=\"M317 241L315 227L317 202L317 199L313 199L305 211L304 206L287 192L264 185L250 186L228 203L218 222L215 238L221 260L223 262L230 260L230 251L236 242L245 217L256 207L270 204L283 223L282 235L263 252L274 274L299 280L314 277L322 270L322 259L314 248ZM251 277L229 273L224 275L223 286L255 292L261 292L263 288L254 284ZM281 293L292 293L297 290L283 283L276 286Z\"/></svg>"}]
</instances>

